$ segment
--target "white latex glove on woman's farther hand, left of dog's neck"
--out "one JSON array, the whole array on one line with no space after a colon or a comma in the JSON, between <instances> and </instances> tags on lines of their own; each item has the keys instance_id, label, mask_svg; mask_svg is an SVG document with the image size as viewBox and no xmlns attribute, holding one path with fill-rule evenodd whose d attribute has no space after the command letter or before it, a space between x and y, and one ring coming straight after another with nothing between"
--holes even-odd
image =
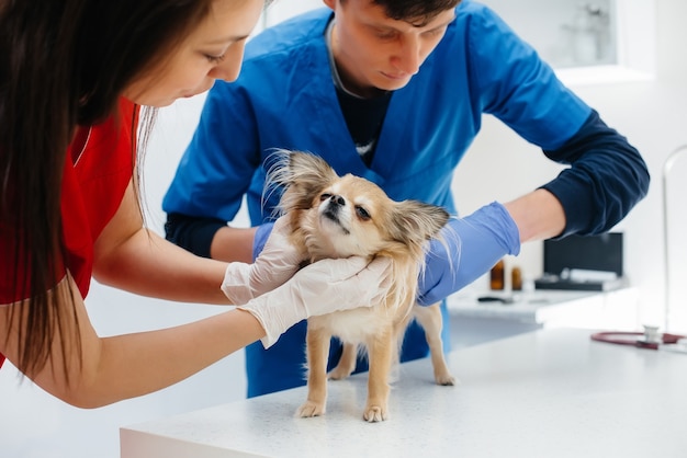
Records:
<instances>
[{"instance_id":1,"label":"white latex glove on woman's farther hand, left of dog's neck","mask_svg":"<svg viewBox=\"0 0 687 458\"><path fill-rule=\"evenodd\" d=\"M227 266L222 290L232 304L241 306L271 291L296 273L306 254L289 241L290 233L289 218L279 218L264 249L252 264L233 262Z\"/></svg>"}]
</instances>

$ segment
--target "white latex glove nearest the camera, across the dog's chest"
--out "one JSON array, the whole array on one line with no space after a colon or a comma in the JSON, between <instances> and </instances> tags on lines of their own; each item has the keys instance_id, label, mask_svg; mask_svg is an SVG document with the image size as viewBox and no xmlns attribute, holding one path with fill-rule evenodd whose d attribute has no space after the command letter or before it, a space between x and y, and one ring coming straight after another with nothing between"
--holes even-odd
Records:
<instances>
[{"instance_id":1,"label":"white latex glove nearest the camera, across the dog's chest","mask_svg":"<svg viewBox=\"0 0 687 458\"><path fill-rule=\"evenodd\" d=\"M262 346L269 348L289 328L309 317L370 307L391 287L391 260L363 257L322 260L311 264L271 293L238 307L264 328Z\"/></svg>"}]
</instances>

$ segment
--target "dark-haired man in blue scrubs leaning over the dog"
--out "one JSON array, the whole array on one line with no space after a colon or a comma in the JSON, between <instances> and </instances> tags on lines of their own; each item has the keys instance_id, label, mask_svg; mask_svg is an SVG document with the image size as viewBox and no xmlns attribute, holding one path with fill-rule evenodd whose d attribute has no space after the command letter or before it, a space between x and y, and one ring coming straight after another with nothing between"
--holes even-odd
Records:
<instances>
[{"instance_id":1,"label":"dark-haired man in blue scrubs leaning over the dog","mask_svg":"<svg viewBox=\"0 0 687 458\"><path fill-rule=\"evenodd\" d=\"M513 202L451 220L449 249L432 245L427 257L420 304L444 299L521 242L607 231L645 195L639 152L489 9L459 0L324 2L328 9L255 37L236 83L210 92L164 202L170 240L236 259L227 240L238 232L226 222L244 195L252 222L268 220L278 196L262 205L262 164L273 148L315 152L394 199L455 213L453 170L483 113L571 167ZM258 228L256 252L267 233L269 225ZM249 396L304 383L304 336L301 323L269 351L247 348ZM426 354L421 330L408 330L402 359Z\"/></svg>"}]
</instances>

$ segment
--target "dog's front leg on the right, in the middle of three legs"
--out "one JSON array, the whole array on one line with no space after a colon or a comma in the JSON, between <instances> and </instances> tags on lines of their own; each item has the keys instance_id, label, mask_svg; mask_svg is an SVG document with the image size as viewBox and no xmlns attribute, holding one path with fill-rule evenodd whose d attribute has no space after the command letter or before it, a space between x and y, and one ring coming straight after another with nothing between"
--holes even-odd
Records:
<instances>
[{"instance_id":1,"label":"dog's front leg on the right, in the middle of three legs","mask_svg":"<svg viewBox=\"0 0 687 458\"><path fill-rule=\"evenodd\" d=\"M370 423L388 417L388 376L395 345L392 330L372 336L368 342L370 376L368 378L368 403L362 417Z\"/></svg>"}]
</instances>

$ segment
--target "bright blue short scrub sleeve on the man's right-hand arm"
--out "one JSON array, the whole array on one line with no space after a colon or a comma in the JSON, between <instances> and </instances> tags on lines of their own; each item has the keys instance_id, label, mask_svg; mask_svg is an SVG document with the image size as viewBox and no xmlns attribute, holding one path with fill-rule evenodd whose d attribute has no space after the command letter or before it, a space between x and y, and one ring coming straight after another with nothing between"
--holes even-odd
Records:
<instances>
[{"instance_id":1,"label":"bright blue short scrub sleeve on the man's right-hand arm","mask_svg":"<svg viewBox=\"0 0 687 458\"><path fill-rule=\"evenodd\" d=\"M592 108L494 11L465 2L459 19L464 23L468 78L477 110L543 149L562 147Z\"/></svg>"}]
</instances>

